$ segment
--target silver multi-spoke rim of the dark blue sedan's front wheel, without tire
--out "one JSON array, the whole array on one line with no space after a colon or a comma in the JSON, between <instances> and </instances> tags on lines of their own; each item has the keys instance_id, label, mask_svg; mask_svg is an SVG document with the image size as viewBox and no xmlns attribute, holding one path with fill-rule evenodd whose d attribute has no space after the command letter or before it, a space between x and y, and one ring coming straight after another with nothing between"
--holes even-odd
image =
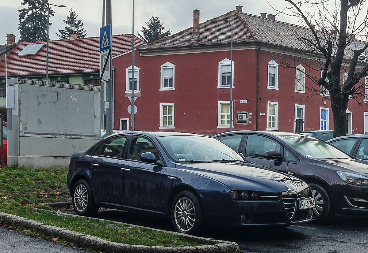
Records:
<instances>
[{"instance_id":1,"label":"silver multi-spoke rim of the dark blue sedan's front wheel, without tire","mask_svg":"<svg viewBox=\"0 0 368 253\"><path fill-rule=\"evenodd\" d=\"M192 200L187 197L178 199L174 209L174 218L180 231L190 231L195 223L195 208Z\"/></svg>"}]
</instances>

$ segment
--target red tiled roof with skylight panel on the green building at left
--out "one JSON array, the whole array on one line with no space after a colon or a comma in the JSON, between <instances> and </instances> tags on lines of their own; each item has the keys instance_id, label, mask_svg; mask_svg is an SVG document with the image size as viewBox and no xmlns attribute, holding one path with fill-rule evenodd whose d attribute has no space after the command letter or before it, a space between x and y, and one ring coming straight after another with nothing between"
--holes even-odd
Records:
<instances>
[{"instance_id":1,"label":"red tiled roof with skylight panel on the green building at left","mask_svg":"<svg viewBox=\"0 0 368 253\"><path fill-rule=\"evenodd\" d=\"M135 37L135 47L146 43ZM18 56L30 44L43 46L35 55ZM132 35L112 36L112 56L131 50ZM49 41L49 75L99 72L99 37ZM46 41L21 42L7 57L8 76L46 75ZM5 62L0 62L0 76L5 76Z\"/></svg>"}]
</instances>

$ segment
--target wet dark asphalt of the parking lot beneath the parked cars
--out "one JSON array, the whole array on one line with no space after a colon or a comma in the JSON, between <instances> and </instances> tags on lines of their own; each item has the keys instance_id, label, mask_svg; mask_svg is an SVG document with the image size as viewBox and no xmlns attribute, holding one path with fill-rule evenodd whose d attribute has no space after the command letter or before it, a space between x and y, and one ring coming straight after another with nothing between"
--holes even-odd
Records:
<instances>
[{"instance_id":1,"label":"wet dark asphalt of the parking lot beneath the parked cars","mask_svg":"<svg viewBox=\"0 0 368 253\"><path fill-rule=\"evenodd\" d=\"M73 213L72 211L67 211ZM95 216L107 220L173 230L169 220L127 213L100 210ZM200 236L237 242L241 252L368 252L368 218L338 216L324 225L302 224L284 229L208 229Z\"/></svg>"}]
</instances>

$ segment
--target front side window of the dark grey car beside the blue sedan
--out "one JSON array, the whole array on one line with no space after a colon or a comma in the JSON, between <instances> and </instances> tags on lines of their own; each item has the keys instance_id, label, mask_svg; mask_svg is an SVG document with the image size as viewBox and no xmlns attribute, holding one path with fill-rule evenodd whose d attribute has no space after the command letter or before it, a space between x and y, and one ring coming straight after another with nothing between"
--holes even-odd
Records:
<instances>
[{"instance_id":1,"label":"front side window of the dark grey car beside the blue sedan","mask_svg":"<svg viewBox=\"0 0 368 253\"><path fill-rule=\"evenodd\" d=\"M276 150L280 153L280 144L261 135L248 135L245 156L263 158L264 153Z\"/></svg>"}]
</instances>

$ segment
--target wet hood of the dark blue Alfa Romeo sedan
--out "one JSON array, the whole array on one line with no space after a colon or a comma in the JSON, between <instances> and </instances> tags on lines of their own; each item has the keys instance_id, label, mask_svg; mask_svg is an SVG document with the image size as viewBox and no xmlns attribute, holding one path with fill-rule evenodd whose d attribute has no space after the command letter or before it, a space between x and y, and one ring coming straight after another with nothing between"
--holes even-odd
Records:
<instances>
[{"instance_id":1,"label":"wet hood of the dark blue Alfa Romeo sedan","mask_svg":"<svg viewBox=\"0 0 368 253\"><path fill-rule=\"evenodd\" d=\"M177 169L212 178L231 190L281 193L301 191L307 184L283 173L253 163L177 163Z\"/></svg>"}]
</instances>

